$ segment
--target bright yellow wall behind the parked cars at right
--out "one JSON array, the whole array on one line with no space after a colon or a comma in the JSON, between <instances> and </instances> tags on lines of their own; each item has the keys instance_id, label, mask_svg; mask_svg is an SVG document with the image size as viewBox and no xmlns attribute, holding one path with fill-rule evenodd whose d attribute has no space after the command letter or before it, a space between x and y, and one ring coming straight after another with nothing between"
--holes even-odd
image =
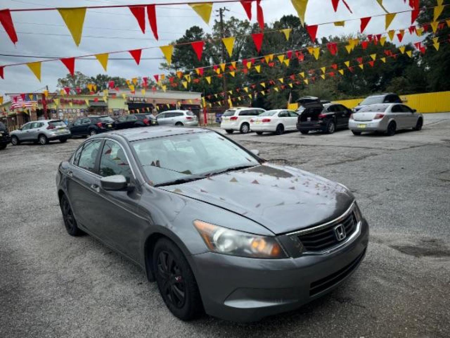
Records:
<instances>
[{"instance_id":1,"label":"bright yellow wall behind the parked cars at right","mask_svg":"<svg viewBox=\"0 0 450 338\"><path fill-rule=\"evenodd\" d=\"M441 113L450 111L450 91L438 91L435 93L422 93L401 95L400 98L405 101L405 104L420 113ZM358 105L364 98L351 100L338 100L348 108L353 108Z\"/></svg>"}]
</instances>

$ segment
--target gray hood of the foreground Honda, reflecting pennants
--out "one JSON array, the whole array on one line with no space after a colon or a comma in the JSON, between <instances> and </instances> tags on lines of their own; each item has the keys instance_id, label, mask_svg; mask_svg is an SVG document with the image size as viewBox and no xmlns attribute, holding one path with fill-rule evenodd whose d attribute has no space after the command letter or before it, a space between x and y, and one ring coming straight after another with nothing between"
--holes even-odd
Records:
<instances>
[{"instance_id":1,"label":"gray hood of the foreground Honda, reflecting pennants","mask_svg":"<svg viewBox=\"0 0 450 338\"><path fill-rule=\"evenodd\" d=\"M351 192L338 183L274 164L161 189L243 215L275 234L335 219L354 201ZM225 226L233 228L233 224Z\"/></svg>"}]
</instances>

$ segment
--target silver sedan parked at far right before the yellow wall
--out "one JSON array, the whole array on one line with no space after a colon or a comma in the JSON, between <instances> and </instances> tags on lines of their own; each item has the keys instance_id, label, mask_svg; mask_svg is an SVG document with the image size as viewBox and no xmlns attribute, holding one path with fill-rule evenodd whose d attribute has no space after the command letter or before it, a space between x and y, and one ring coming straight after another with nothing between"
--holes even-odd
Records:
<instances>
[{"instance_id":1,"label":"silver sedan parked at far right before the yellow wall","mask_svg":"<svg viewBox=\"0 0 450 338\"><path fill-rule=\"evenodd\" d=\"M387 136L392 136L397 130L420 130L422 126L422 114L398 103L365 106L351 114L348 121L348 128L355 135L361 135L361 132L384 132Z\"/></svg>"}]
</instances>

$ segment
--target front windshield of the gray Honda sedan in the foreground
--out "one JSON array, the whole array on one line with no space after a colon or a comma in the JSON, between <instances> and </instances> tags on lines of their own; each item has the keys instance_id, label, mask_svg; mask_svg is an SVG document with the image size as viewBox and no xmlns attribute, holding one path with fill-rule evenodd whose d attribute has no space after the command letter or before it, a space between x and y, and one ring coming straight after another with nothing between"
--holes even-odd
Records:
<instances>
[{"instance_id":1,"label":"front windshield of the gray Honda sedan in the foreground","mask_svg":"<svg viewBox=\"0 0 450 338\"><path fill-rule=\"evenodd\" d=\"M153 185L170 185L253 167L258 160L216 132L196 132L132 142Z\"/></svg>"}]
</instances>

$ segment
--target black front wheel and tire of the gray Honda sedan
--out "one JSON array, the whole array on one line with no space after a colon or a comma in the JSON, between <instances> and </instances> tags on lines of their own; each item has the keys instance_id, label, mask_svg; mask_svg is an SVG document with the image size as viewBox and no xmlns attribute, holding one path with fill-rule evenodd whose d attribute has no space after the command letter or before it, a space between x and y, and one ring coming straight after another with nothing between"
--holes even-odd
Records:
<instances>
[{"instance_id":1,"label":"black front wheel and tire of the gray Honda sedan","mask_svg":"<svg viewBox=\"0 0 450 338\"><path fill-rule=\"evenodd\" d=\"M166 238L155 245L153 271L161 297L173 315L192 320L202 313L202 299L189 263Z\"/></svg>"}]
</instances>

